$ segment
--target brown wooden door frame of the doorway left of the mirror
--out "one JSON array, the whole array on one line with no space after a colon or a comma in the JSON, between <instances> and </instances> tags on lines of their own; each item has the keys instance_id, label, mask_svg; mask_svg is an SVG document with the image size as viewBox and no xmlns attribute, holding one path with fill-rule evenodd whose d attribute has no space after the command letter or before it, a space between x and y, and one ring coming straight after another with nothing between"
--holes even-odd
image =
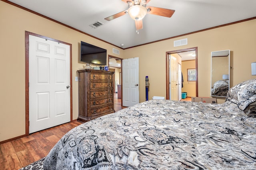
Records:
<instances>
[{"instance_id":1,"label":"brown wooden door frame of the doorway left of the mirror","mask_svg":"<svg viewBox=\"0 0 256 170\"><path fill-rule=\"evenodd\" d=\"M192 48L188 48L188 49L180 49L180 50L174 50L174 51L167 51L166 52L166 100L170 99L170 68L169 68L169 55L170 54L174 54L174 53L180 53L180 52L186 52L186 51L192 51L195 50L195 54L196 54L196 97L198 97L198 47L192 47Z\"/></svg>"}]
</instances>

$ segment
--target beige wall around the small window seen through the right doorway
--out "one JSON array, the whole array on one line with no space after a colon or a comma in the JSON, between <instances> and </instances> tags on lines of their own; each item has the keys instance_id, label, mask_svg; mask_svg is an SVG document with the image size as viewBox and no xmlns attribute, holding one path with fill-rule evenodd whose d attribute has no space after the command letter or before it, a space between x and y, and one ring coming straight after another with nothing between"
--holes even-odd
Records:
<instances>
[{"instance_id":1,"label":"beige wall around the small window seen through the right doorway","mask_svg":"<svg viewBox=\"0 0 256 170\"><path fill-rule=\"evenodd\" d=\"M196 61L182 61L181 70L183 74L183 88L182 92L187 92L188 97L196 96L196 82L188 82L188 71L187 69L196 68Z\"/></svg>"}]
</instances>

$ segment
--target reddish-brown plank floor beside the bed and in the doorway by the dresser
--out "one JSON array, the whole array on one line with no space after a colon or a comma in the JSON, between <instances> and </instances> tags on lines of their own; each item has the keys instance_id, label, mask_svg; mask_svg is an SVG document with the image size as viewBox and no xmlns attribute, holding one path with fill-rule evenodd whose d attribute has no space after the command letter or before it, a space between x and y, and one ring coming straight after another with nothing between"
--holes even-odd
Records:
<instances>
[{"instance_id":1,"label":"reddish-brown plank floor beside the bed and in the doorway by the dresser","mask_svg":"<svg viewBox=\"0 0 256 170\"><path fill-rule=\"evenodd\" d=\"M121 110L121 99L114 94L114 109ZM68 131L82 123L74 121L32 133L14 141L0 145L0 169L18 170L28 164L44 158L54 145Z\"/></svg>"}]
</instances>

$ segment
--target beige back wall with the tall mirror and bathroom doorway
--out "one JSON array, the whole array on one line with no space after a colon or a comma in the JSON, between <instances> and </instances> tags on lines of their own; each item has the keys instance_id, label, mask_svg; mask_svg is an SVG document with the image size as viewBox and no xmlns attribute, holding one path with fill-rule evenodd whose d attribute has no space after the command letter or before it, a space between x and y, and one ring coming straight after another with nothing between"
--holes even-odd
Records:
<instances>
[{"instance_id":1,"label":"beige back wall with the tall mirror and bathroom doorway","mask_svg":"<svg viewBox=\"0 0 256 170\"><path fill-rule=\"evenodd\" d=\"M145 99L144 78L149 76L149 97L166 96L166 52L198 47L198 96L210 96L211 51L230 49L230 86L256 78L251 75L251 63L256 61L256 20L236 23L153 44L126 49L124 58L139 57L140 102ZM173 47L173 41L188 38L188 45ZM224 99L218 99L218 103Z\"/></svg>"}]
</instances>

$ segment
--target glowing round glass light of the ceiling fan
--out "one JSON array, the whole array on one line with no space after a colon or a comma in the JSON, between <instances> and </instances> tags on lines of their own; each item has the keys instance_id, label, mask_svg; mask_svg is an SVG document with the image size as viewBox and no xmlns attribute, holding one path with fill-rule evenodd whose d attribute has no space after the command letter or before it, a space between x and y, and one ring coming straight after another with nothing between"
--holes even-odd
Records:
<instances>
[{"instance_id":1,"label":"glowing round glass light of the ceiling fan","mask_svg":"<svg viewBox=\"0 0 256 170\"><path fill-rule=\"evenodd\" d=\"M141 5L134 5L128 9L128 14L133 20L139 21L142 20L144 16L146 16L147 9Z\"/></svg>"}]
</instances>

